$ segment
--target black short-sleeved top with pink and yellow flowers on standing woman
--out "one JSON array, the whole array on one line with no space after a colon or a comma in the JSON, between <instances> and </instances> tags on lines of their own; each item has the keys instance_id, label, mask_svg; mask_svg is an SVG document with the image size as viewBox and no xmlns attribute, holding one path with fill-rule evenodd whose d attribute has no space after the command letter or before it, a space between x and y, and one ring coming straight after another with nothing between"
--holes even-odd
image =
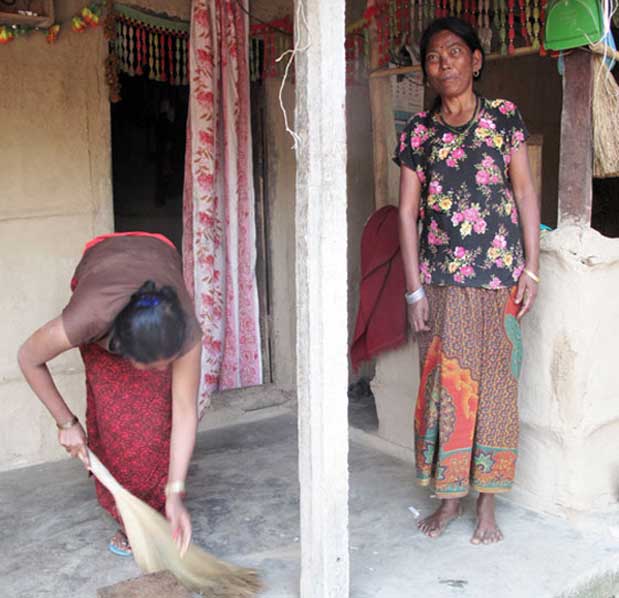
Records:
<instances>
[{"instance_id":1,"label":"black short-sleeved top with pink and yellow flowers on standing woman","mask_svg":"<svg viewBox=\"0 0 619 598\"><path fill-rule=\"evenodd\" d=\"M477 117L461 131L435 112L410 119L394 159L422 185L424 283L499 289L518 280L524 258L509 163L527 136L507 100L482 98Z\"/></svg>"}]
</instances>

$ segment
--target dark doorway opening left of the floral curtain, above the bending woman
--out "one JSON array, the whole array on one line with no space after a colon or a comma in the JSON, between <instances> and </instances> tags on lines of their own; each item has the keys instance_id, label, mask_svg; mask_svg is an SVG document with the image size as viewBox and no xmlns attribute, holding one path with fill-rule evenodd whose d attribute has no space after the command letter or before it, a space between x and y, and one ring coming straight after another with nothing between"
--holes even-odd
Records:
<instances>
[{"instance_id":1,"label":"dark doorway opening left of the floral curtain, above the bending woman","mask_svg":"<svg viewBox=\"0 0 619 598\"><path fill-rule=\"evenodd\" d=\"M112 104L115 230L162 233L181 251L189 87L120 79L122 101Z\"/></svg>"}]
</instances>

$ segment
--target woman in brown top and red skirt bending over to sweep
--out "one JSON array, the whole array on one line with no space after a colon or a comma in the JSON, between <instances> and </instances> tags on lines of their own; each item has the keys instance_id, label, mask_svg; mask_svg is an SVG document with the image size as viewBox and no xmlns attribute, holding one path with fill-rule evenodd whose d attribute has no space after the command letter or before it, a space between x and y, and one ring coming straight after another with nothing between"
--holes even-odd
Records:
<instances>
[{"instance_id":1,"label":"woman in brown top and red skirt bending over to sweep","mask_svg":"<svg viewBox=\"0 0 619 598\"><path fill-rule=\"evenodd\" d=\"M191 540L183 505L193 451L200 376L200 327L181 260L161 235L120 233L88 245L61 315L21 347L19 364L58 427L58 440L88 465L86 446L132 494L165 513L180 549ZM47 368L79 347L86 371L86 432ZM109 549L131 547L114 499L95 481L100 504L121 529Z\"/></svg>"}]
</instances>

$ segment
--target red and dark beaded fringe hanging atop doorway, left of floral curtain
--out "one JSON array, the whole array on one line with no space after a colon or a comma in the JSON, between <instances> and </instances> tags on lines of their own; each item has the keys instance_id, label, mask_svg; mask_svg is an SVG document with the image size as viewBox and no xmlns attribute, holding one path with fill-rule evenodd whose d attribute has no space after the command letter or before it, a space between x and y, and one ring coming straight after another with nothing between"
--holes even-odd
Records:
<instances>
[{"instance_id":1,"label":"red and dark beaded fringe hanging atop doorway, left of floral curtain","mask_svg":"<svg viewBox=\"0 0 619 598\"><path fill-rule=\"evenodd\" d=\"M114 5L113 51L130 76L146 75L170 85L187 85L189 23Z\"/></svg>"}]
</instances>

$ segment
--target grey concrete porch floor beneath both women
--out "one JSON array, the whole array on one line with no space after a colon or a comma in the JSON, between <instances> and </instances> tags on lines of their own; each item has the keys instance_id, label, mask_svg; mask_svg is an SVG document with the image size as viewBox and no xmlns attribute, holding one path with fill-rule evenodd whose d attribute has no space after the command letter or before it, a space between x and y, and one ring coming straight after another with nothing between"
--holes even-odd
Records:
<instances>
[{"instance_id":1,"label":"grey concrete porch floor beneath both women","mask_svg":"<svg viewBox=\"0 0 619 598\"><path fill-rule=\"evenodd\" d=\"M298 595L296 460L290 413L201 433L191 465L195 541L258 568L264 598ZM468 504L429 540L409 506L427 513L435 501L414 485L409 465L355 443L350 468L353 598L611 598L619 587L616 517L574 525L501 501L506 540L472 546ZM115 525L77 462L0 474L0 527L0 598L94 598L139 574L106 550Z\"/></svg>"}]
</instances>

